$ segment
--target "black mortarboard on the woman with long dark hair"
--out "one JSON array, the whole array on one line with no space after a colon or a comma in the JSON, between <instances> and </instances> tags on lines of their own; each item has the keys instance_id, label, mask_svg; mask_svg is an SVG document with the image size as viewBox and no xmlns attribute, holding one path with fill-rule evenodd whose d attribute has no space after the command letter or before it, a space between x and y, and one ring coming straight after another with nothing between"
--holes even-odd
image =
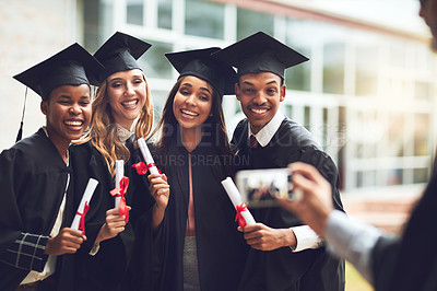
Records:
<instances>
[{"instance_id":1,"label":"black mortarboard on the woman with long dark hair","mask_svg":"<svg viewBox=\"0 0 437 291\"><path fill-rule=\"evenodd\" d=\"M237 81L236 72L231 65L212 58L211 54L220 47L193 49L165 54L172 66L182 75L194 75L209 82L222 96L234 94Z\"/></svg>"}]
</instances>

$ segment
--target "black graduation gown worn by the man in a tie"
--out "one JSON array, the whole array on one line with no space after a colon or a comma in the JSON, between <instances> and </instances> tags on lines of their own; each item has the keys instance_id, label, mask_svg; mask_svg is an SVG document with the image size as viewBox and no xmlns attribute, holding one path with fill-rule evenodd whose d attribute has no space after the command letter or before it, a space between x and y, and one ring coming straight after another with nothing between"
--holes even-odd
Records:
<instances>
[{"instance_id":1,"label":"black graduation gown worn by the man in a tie","mask_svg":"<svg viewBox=\"0 0 437 291\"><path fill-rule=\"evenodd\" d=\"M292 162L316 166L332 186L334 207L342 210L339 174L331 158L311 139L310 133L295 121L284 118L267 147L250 148L248 120L241 120L232 143L237 148L236 170L286 167ZM274 229L302 225L286 210L261 208L250 210L257 222ZM344 261L334 258L324 247L293 253L288 247L270 252L250 248L239 290L322 291L344 290Z\"/></svg>"}]
</instances>

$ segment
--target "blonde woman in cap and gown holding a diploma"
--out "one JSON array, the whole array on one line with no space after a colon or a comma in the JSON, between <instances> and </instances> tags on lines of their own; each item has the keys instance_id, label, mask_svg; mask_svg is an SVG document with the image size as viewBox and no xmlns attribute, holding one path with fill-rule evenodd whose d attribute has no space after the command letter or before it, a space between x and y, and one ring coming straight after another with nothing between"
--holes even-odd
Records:
<instances>
[{"instance_id":1,"label":"blonde woman in cap and gown holding a diploma","mask_svg":"<svg viewBox=\"0 0 437 291\"><path fill-rule=\"evenodd\" d=\"M137 59L150 44L130 35L114 34L94 55L105 71L95 75L92 83L99 85L93 101L90 131L72 151L73 167L80 168L78 189L90 177L99 181L85 228L87 243L76 255L78 290L126 290L122 281L134 242L132 225L138 214L129 213L132 199L139 202L135 210L147 211L153 205L145 177L131 167L139 161L134 150L135 138L147 137L153 124L151 94L145 75ZM125 161L126 208L115 208L110 191L120 188L115 184L116 160ZM138 195L135 193L139 193ZM147 200L150 197L150 200ZM78 201L79 202L79 201Z\"/></svg>"}]
</instances>

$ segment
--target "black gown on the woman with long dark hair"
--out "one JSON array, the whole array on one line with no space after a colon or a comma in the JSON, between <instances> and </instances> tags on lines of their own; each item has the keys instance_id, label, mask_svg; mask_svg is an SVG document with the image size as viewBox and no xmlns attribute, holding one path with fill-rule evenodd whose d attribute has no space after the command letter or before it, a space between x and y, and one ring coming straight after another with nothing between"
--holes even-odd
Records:
<instances>
[{"instance_id":1,"label":"black gown on the woman with long dark hair","mask_svg":"<svg viewBox=\"0 0 437 291\"><path fill-rule=\"evenodd\" d=\"M229 160L221 161L205 138L191 153L177 138L170 146L169 154L154 155L155 163L168 177L170 196L153 245L141 244L143 249L149 251L143 251L143 255L138 256L140 265L135 265L135 270L143 276L138 290L184 290L182 258L189 199L189 159L201 289L237 290L248 246L243 234L237 231L235 209L221 185L221 181L226 178L223 165L229 165ZM139 231L150 229L150 225L137 226ZM152 260L144 257L145 254L152 254ZM153 288L150 287L151 283ZM150 289L146 289L147 284Z\"/></svg>"}]
</instances>

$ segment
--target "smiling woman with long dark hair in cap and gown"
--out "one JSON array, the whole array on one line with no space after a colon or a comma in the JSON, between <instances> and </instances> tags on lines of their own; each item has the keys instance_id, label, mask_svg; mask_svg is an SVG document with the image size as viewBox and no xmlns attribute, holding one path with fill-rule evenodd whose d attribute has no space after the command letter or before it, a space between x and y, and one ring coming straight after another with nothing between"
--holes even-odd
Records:
<instances>
[{"instance_id":1,"label":"smiling woman with long dark hair in cap and gown","mask_svg":"<svg viewBox=\"0 0 437 291\"><path fill-rule=\"evenodd\" d=\"M221 104L223 94L233 91L235 71L210 57L217 49L166 54L179 78L152 153L170 188L169 196L152 189L162 220L137 229L152 226L155 234L152 245L140 243L135 249L138 290L232 291L239 283L248 246L220 183L232 175Z\"/></svg>"}]
</instances>

